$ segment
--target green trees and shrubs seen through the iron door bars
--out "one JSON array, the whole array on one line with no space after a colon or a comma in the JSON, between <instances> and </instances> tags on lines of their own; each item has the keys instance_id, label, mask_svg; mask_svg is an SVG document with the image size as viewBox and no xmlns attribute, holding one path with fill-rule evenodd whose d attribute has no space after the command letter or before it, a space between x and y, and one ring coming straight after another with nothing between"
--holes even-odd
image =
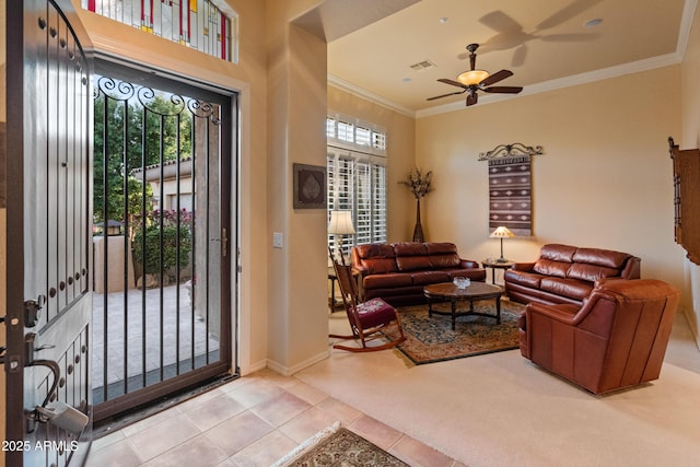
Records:
<instances>
[{"instance_id":1,"label":"green trees and shrubs seen through the iron door bars","mask_svg":"<svg viewBox=\"0 0 700 467\"><path fill-rule=\"evenodd\" d=\"M192 213L153 209L153 188L142 179L149 166L191 156L192 115L178 96L109 79L103 84L94 100L93 220L128 226L143 275L172 275L189 265ZM118 95L129 91L136 92L128 100Z\"/></svg>"}]
</instances>

